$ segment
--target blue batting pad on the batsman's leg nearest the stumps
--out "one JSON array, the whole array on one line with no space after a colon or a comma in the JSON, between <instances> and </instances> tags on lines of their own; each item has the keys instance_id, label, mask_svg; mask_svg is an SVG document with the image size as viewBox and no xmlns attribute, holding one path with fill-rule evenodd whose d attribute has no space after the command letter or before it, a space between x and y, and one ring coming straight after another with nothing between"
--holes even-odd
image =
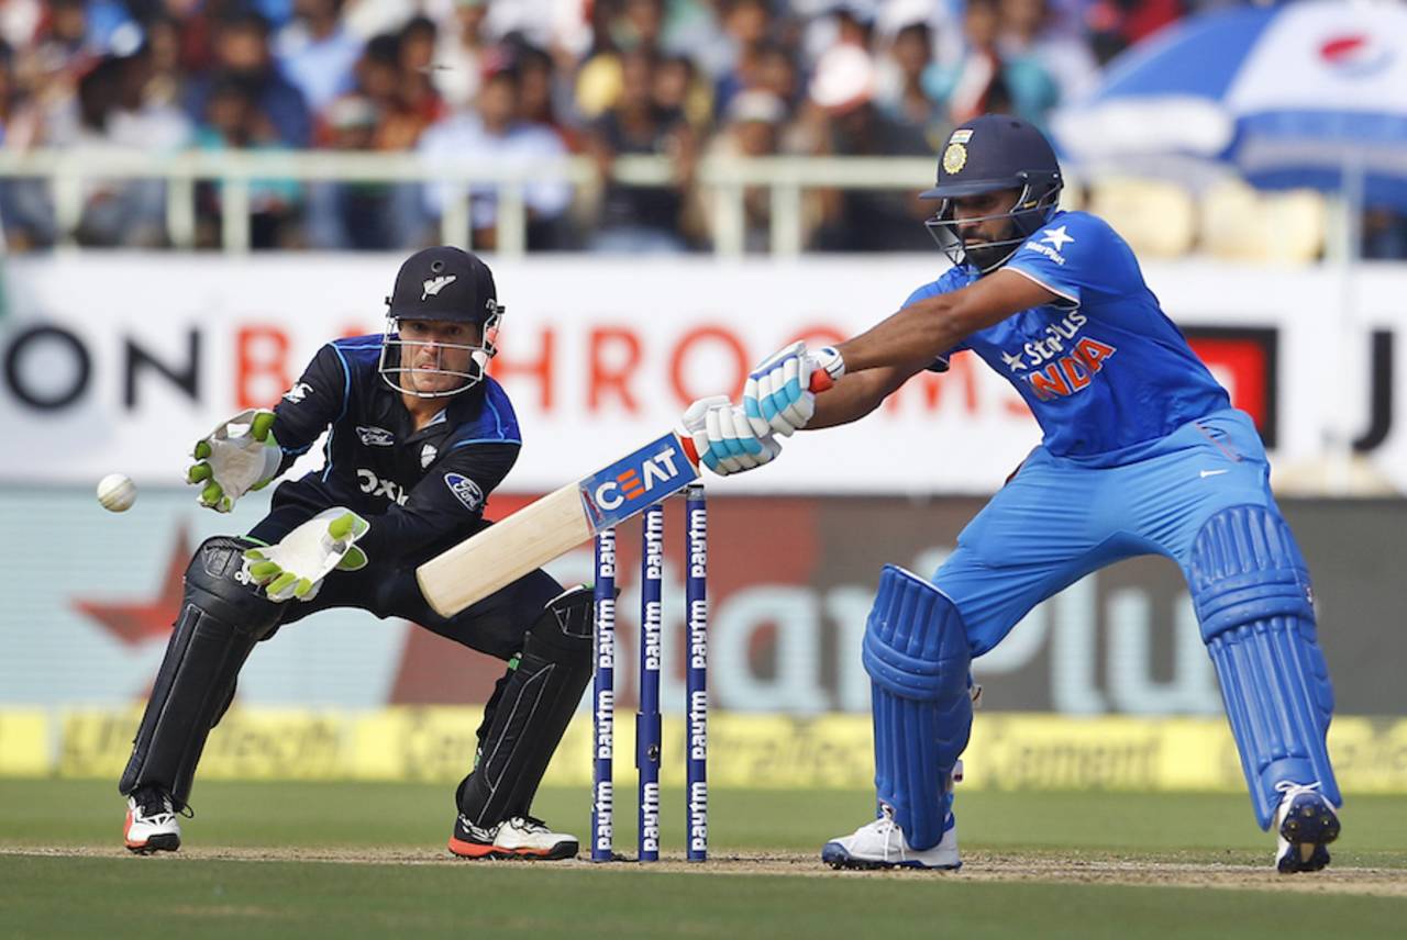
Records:
<instances>
[{"instance_id":1,"label":"blue batting pad on the batsman's leg nearest the stumps","mask_svg":"<svg viewBox=\"0 0 1407 940\"><path fill-rule=\"evenodd\" d=\"M950 776L972 731L967 629L937 587L885 565L865 624L875 722L875 790L913 849L943 837Z\"/></svg>"}]
</instances>

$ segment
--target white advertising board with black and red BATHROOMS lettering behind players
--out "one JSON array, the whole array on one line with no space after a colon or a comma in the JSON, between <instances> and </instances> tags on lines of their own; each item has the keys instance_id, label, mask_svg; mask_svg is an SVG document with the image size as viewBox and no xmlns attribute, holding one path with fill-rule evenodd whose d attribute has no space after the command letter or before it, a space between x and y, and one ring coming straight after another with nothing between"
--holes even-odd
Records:
<instances>
[{"instance_id":1,"label":"white advertising board with black and red BATHROOMS lettering behind players","mask_svg":"<svg viewBox=\"0 0 1407 940\"><path fill-rule=\"evenodd\" d=\"M276 402L319 344L380 332L400 260L10 259L0 481L90 485L114 471L139 483L179 481L196 438L243 407ZM508 305L494 374L525 437L504 492L521 493L618 458L674 426L696 396L739 391L749 365L798 336L834 340L865 329L944 266L940 256L490 260ZM1407 367L1404 344L1393 343L1407 267L1365 266L1352 281L1332 268L1209 263L1145 273L1180 326L1268 337L1256 367L1268 386L1233 395L1249 395L1251 410L1269 416L1279 483L1407 490L1407 443L1392 426L1407 406L1392 381ZM1211 364L1228 385L1244 379ZM1363 445L1337 476L1321 469L1334 433ZM778 466L716 485L723 493L988 493L1038 440L1006 381L960 355L951 374L917 377L870 419L798 436Z\"/></svg>"}]
</instances>

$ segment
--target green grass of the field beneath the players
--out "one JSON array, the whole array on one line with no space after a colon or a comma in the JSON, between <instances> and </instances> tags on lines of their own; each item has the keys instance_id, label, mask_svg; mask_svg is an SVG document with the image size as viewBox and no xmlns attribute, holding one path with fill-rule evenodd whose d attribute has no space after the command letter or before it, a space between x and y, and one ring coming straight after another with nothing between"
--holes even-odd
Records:
<instances>
[{"instance_id":1,"label":"green grass of the field beneath the players","mask_svg":"<svg viewBox=\"0 0 1407 940\"><path fill-rule=\"evenodd\" d=\"M221 847L307 849L340 859L405 850L433 861L453 821L452 787L201 784L184 821L190 856ZM622 797L630 795L622 792ZM587 835L582 791L545 791L536 811ZM868 794L718 791L715 856L815 851L865 818ZM664 794L666 850L680 850L682 797ZM1265 866L1268 839L1244 797L1144 794L960 795L968 870L808 877L819 863L741 874L633 866L408 864L114 857L122 804L111 783L0 781L0 936L429 936L581 937L1361 937L1392 936L1407 894L1307 892L1304 880L1242 888L983 881L983 857L1057 871L1100 861L1209 870ZM618 805L618 847L635 837ZM82 846L96 849L80 854ZM1335 866L1373 867L1407 889L1400 798L1356 798ZM66 847L72 857L14 850ZM10 849L11 854L3 854ZM705 867L706 870L706 867ZM1328 884L1325 881L1325 884ZM951 932L951 933L950 933Z\"/></svg>"}]
</instances>

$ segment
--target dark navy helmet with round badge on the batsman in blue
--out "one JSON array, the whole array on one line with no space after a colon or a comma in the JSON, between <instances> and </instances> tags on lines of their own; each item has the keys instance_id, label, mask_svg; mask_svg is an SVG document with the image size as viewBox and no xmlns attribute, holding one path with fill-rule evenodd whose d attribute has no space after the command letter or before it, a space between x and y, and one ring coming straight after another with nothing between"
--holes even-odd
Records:
<instances>
[{"instance_id":1,"label":"dark navy helmet with round badge on the batsman in blue","mask_svg":"<svg viewBox=\"0 0 1407 940\"><path fill-rule=\"evenodd\" d=\"M983 114L953 131L938 156L937 184L919 198L941 200L938 211L924 225L953 263L971 264L988 274L1006 264L1021 243L1050 221L1064 185L1055 150L1044 133L1020 118ZM969 257L954 219L953 200L1002 190L1020 191L1010 212L964 219L962 223L1009 218L1012 233L999 242L983 243L981 256L974 249Z\"/></svg>"}]
</instances>

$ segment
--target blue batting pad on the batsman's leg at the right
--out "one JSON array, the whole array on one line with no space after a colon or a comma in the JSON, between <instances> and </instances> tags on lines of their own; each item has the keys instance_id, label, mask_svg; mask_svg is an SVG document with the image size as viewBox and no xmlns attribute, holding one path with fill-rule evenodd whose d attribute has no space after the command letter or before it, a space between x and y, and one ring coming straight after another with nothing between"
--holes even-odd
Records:
<instances>
[{"instance_id":1,"label":"blue batting pad on the batsman's leg at the right","mask_svg":"<svg viewBox=\"0 0 1407 940\"><path fill-rule=\"evenodd\" d=\"M1325 745L1334 687L1289 526L1265 506L1224 509L1197 533L1189 575L1261 828L1282 783L1318 784L1342 805Z\"/></svg>"}]
</instances>

